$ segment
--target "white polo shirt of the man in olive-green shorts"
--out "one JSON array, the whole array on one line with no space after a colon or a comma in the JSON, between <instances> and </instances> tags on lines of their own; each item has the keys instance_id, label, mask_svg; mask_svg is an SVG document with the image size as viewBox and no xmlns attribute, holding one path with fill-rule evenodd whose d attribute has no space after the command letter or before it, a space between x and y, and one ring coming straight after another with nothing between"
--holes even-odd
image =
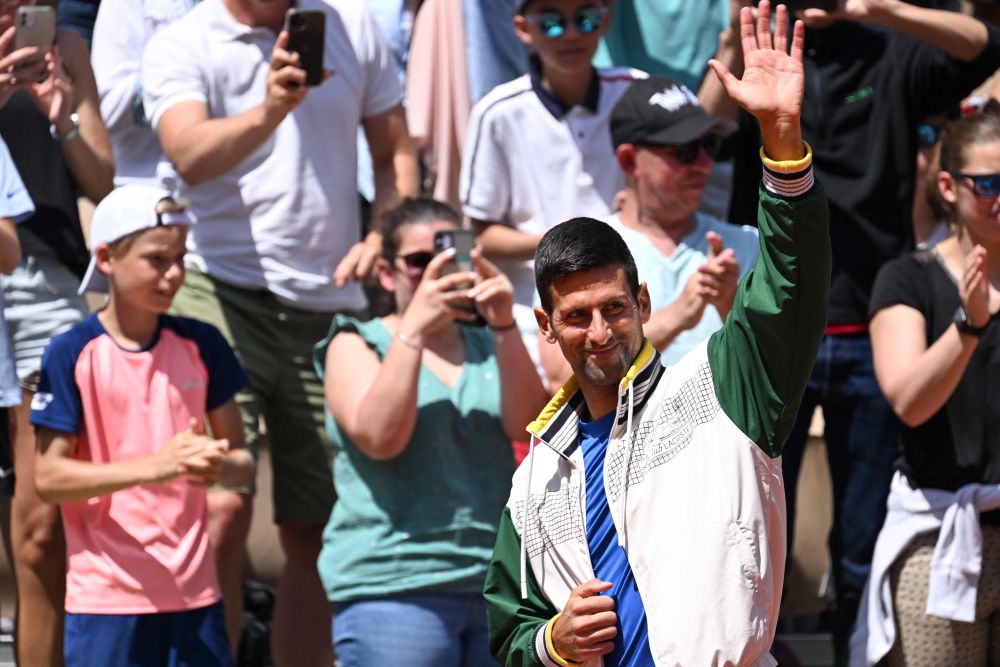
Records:
<instances>
[{"instance_id":1,"label":"white polo shirt of the man in olive-green shorts","mask_svg":"<svg viewBox=\"0 0 1000 667\"><path fill-rule=\"evenodd\" d=\"M357 128L402 98L378 26L357 0L300 0L327 14L324 66L333 74L252 155L197 186L179 182L195 225L191 263L240 287L266 288L320 311L363 308L357 283L338 289L337 263L360 240ZM265 97L277 35L238 22L222 0L205 0L159 31L143 54L146 111L155 128L180 102L234 116Z\"/></svg>"}]
</instances>

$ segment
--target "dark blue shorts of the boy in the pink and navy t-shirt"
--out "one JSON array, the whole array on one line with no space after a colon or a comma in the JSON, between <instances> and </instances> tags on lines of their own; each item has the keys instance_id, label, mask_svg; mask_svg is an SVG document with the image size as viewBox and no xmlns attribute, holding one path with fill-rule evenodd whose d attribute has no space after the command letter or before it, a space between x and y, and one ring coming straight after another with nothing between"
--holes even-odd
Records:
<instances>
[{"instance_id":1,"label":"dark blue shorts of the boy in the pink and navy t-shirt","mask_svg":"<svg viewBox=\"0 0 1000 667\"><path fill-rule=\"evenodd\" d=\"M66 613L66 667L232 667L222 602L160 614Z\"/></svg>"}]
</instances>

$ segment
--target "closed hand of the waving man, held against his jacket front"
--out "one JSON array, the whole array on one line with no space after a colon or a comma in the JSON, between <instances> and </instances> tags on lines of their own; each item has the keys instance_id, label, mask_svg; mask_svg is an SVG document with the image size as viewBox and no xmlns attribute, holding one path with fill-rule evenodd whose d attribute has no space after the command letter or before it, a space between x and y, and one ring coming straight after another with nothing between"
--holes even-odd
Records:
<instances>
[{"instance_id":1,"label":"closed hand of the waving man, held against his jacket front","mask_svg":"<svg viewBox=\"0 0 1000 667\"><path fill-rule=\"evenodd\" d=\"M586 662L614 650L618 635L615 601L601 595L611 583L591 579L569 594L562 614L552 625L552 644L566 660Z\"/></svg>"}]
</instances>

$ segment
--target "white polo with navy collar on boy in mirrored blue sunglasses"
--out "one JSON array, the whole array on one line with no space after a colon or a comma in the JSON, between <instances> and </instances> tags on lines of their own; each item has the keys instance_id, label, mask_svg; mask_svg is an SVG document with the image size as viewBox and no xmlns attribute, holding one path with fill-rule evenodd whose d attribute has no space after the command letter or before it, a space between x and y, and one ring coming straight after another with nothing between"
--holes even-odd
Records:
<instances>
[{"instance_id":1,"label":"white polo with navy collar on boy in mirrored blue sunglasses","mask_svg":"<svg viewBox=\"0 0 1000 667\"><path fill-rule=\"evenodd\" d=\"M525 74L494 88L472 110L460 192L470 218L543 233L578 216L604 218L625 187L611 144L611 110L633 80L630 68L597 70L585 104L562 108ZM532 262L501 262L514 299L530 307ZM520 321L521 318L519 318ZM529 323L533 321L526 315Z\"/></svg>"}]
</instances>

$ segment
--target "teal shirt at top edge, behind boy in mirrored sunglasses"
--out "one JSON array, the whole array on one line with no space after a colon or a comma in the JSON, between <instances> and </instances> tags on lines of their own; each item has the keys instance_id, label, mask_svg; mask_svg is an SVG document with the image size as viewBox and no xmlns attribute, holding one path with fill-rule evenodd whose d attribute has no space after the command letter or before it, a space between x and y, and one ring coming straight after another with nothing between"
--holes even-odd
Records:
<instances>
[{"instance_id":1,"label":"teal shirt at top edge, behind boy in mirrored sunglasses","mask_svg":"<svg viewBox=\"0 0 1000 667\"><path fill-rule=\"evenodd\" d=\"M594 65L627 65L698 90L727 25L728 0L619 0Z\"/></svg>"}]
</instances>

